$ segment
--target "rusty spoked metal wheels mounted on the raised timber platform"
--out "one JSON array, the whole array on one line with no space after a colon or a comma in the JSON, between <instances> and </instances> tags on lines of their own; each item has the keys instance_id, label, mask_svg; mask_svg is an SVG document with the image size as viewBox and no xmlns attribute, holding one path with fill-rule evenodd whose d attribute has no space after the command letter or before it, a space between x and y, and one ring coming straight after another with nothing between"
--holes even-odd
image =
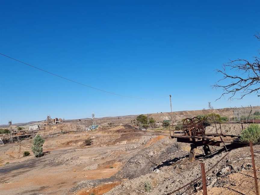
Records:
<instances>
[{"instance_id":1,"label":"rusty spoked metal wheels mounted on the raised timber platform","mask_svg":"<svg viewBox=\"0 0 260 195\"><path fill-rule=\"evenodd\" d=\"M208 125L206 121L201 121L198 117L186 118L183 121L183 132L189 136L205 135Z\"/></svg>"}]
</instances>

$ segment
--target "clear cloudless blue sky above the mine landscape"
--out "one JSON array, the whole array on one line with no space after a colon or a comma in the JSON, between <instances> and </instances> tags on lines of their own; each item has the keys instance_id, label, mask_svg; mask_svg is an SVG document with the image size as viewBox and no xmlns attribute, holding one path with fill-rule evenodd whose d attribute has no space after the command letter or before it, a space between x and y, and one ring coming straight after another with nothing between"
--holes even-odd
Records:
<instances>
[{"instance_id":1,"label":"clear cloudless blue sky above the mine landscape","mask_svg":"<svg viewBox=\"0 0 260 195\"><path fill-rule=\"evenodd\" d=\"M252 60L259 1L1 1L0 124L260 105L221 99L215 69ZM153 100L150 100L153 99Z\"/></svg>"}]
</instances>

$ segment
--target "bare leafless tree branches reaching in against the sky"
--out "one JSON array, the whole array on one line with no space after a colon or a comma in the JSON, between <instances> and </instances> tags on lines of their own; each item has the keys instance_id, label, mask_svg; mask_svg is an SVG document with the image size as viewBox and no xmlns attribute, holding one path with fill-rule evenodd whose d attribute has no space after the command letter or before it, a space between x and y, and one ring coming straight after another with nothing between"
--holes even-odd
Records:
<instances>
[{"instance_id":1,"label":"bare leafless tree branches reaching in against the sky","mask_svg":"<svg viewBox=\"0 0 260 195\"><path fill-rule=\"evenodd\" d=\"M260 34L255 35L256 39L260 41ZM260 55L260 53L258 53ZM229 74L226 70L234 70L236 74ZM224 95L228 95L230 100L242 99L246 95L255 94L260 97L260 58L254 57L253 62L249 62L245 59L230 60L230 62L223 65L223 70L217 70L218 73L223 75L222 80L228 80L231 83L227 85L215 84L214 88L221 88L222 94L218 98L222 98ZM235 98L235 95L240 93L240 98ZM218 100L217 99L217 100Z\"/></svg>"}]
</instances>

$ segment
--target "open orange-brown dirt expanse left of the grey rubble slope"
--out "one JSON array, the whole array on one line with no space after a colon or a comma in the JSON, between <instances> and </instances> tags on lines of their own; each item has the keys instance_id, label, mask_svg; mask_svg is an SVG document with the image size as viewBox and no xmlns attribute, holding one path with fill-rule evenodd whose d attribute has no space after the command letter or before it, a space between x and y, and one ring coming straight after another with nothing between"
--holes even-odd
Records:
<instances>
[{"instance_id":1,"label":"open orange-brown dirt expanse left of the grey rubble slope","mask_svg":"<svg viewBox=\"0 0 260 195\"><path fill-rule=\"evenodd\" d=\"M32 155L32 139L5 144L0 148L0 194L66 194L79 181L110 178L121 169L122 159L131 158L156 136L124 126L57 135L45 139L43 151L49 153L41 158ZM92 139L91 146L84 145L87 138ZM31 155L23 157L24 151ZM93 189L94 194L118 184Z\"/></svg>"}]
</instances>

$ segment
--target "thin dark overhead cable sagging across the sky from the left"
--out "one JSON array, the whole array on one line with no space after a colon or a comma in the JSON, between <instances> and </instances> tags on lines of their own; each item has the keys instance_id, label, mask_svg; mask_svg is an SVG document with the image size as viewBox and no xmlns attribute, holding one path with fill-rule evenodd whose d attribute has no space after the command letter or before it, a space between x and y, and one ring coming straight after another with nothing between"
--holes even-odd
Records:
<instances>
[{"instance_id":1,"label":"thin dark overhead cable sagging across the sky from the left","mask_svg":"<svg viewBox=\"0 0 260 195\"><path fill-rule=\"evenodd\" d=\"M12 58L12 57L7 56L7 55L5 55L5 54L2 54L2 53L0 53L0 54L1 54L2 56L4 56L4 57L8 57L8 58L10 58L10 59L12 59L12 60L15 60L15 61L17 61L17 62L23 63L23 64L25 64L25 65L27 65L27 66L32 67L32 68L36 68L36 69L41 70L41 71L43 71L43 72L45 72L45 73L51 74L51 75L53 75L53 76L60 77L61 79L65 79L65 80L67 80L67 81L71 81L71 82L77 83L77 84L79 84L79 85L83 85L83 86L85 86L85 87L89 87L89 88L92 88L92 89L96 89L96 90L98 90L98 91L102 91L102 92L105 92L105 93L109 93L109 94L113 94L113 95L117 95L117 96L121 96L121 97L125 97L125 98L134 98L134 99L140 99L140 100L148 100L148 99L146 99L146 98L131 97L131 96L116 94L116 93L113 93L113 92L110 92L110 91L105 91L105 90L103 90L103 89L91 87L91 86L89 86L89 85L85 85L85 84L83 84L83 83L80 83L80 82L77 82L77 81L74 81L74 80L71 80L71 79L67 79L67 78L65 78L65 77L63 77L63 76L60 76L60 75L51 73L51 72L49 72L49 71L47 71L47 70L43 70L43 69L41 69L41 68L32 66L32 65L30 65L30 64L28 64L28 63L22 62L22 61L20 61L20 60L17 60L17 59L15 59L15 58ZM150 100L151 100L151 99L150 99Z\"/></svg>"}]
</instances>

